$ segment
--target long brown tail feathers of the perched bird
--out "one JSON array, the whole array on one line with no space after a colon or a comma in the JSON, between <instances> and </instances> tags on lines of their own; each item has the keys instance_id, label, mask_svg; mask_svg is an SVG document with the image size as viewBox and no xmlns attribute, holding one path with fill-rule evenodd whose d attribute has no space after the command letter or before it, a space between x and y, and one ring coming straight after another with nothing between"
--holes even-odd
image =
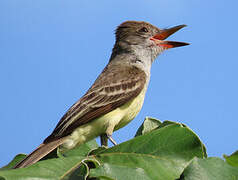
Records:
<instances>
[{"instance_id":1,"label":"long brown tail feathers of the perched bird","mask_svg":"<svg viewBox=\"0 0 238 180\"><path fill-rule=\"evenodd\" d=\"M30 166L37 161L39 161L41 158L45 157L47 154L49 154L51 151L53 151L55 148L57 148L59 145L63 144L64 138L60 138L57 140L54 140L52 142L41 144L37 149L35 149L31 154L25 157L21 162L16 164L14 166L14 169L16 168L23 168Z\"/></svg>"}]
</instances>

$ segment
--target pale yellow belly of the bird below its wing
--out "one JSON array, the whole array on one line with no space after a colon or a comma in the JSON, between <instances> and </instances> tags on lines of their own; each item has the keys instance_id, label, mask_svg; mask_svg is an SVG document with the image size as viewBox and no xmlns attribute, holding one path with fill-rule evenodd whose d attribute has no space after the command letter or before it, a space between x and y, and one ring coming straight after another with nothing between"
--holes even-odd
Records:
<instances>
[{"instance_id":1,"label":"pale yellow belly of the bird below its wing","mask_svg":"<svg viewBox=\"0 0 238 180\"><path fill-rule=\"evenodd\" d=\"M89 140L92 140L101 134L112 134L133 120L136 115L140 112L146 87L142 92L133 100L124 104L115 110L78 127L70 136L68 136L65 143L62 145L63 148L72 149L76 145L83 144Z\"/></svg>"}]
</instances>

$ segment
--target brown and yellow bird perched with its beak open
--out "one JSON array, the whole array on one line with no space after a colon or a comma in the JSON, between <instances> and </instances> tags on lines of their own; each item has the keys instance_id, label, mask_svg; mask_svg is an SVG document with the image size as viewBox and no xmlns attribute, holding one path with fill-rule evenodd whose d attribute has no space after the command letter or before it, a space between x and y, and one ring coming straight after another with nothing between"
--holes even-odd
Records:
<instances>
[{"instance_id":1,"label":"brown and yellow bird perched with its beak open","mask_svg":"<svg viewBox=\"0 0 238 180\"><path fill-rule=\"evenodd\" d=\"M88 91L63 115L53 132L16 168L28 167L57 147L72 149L98 136L107 146L114 131L140 112L151 65L163 51L189 45L165 39L186 25L160 29L145 21L125 21L115 30L108 64Z\"/></svg>"}]
</instances>

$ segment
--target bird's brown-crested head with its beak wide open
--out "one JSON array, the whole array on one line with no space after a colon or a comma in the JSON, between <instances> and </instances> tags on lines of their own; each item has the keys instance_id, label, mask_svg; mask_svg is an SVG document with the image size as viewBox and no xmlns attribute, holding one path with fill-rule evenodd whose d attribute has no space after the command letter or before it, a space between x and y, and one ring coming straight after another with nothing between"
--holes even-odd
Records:
<instances>
[{"instance_id":1,"label":"bird's brown-crested head with its beak wide open","mask_svg":"<svg viewBox=\"0 0 238 180\"><path fill-rule=\"evenodd\" d=\"M167 37L185 26L159 29L143 21L126 21L116 29L116 43L113 50L152 53L155 59L166 49L188 45L185 42L165 41Z\"/></svg>"}]
</instances>

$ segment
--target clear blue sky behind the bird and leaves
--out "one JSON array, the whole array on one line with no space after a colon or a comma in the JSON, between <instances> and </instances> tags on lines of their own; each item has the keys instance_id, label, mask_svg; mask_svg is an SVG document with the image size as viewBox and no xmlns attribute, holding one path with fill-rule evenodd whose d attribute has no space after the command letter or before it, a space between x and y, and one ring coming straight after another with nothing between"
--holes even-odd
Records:
<instances>
[{"instance_id":1,"label":"clear blue sky behind the bird and leaves","mask_svg":"<svg viewBox=\"0 0 238 180\"><path fill-rule=\"evenodd\" d=\"M140 114L114 133L132 138L145 116L182 122L209 156L238 149L238 2L235 0L2 0L0 2L0 166L29 153L107 64L114 30L126 20L160 28L187 24L170 40Z\"/></svg>"}]
</instances>

